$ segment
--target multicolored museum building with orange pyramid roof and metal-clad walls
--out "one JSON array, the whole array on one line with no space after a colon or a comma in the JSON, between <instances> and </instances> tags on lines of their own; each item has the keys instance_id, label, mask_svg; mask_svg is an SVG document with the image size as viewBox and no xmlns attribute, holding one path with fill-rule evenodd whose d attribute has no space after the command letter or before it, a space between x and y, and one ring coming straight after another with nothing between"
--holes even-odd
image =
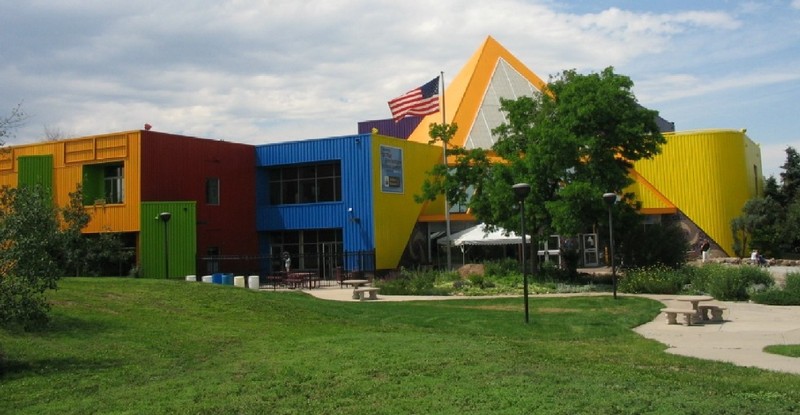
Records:
<instances>
[{"instance_id":1,"label":"multicolored museum building with orange pyramid roof and metal-clad walls","mask_svg":"<svg viewBox=\"0 0 800 415\"><path fill-rule=\"evenodd\" d=\"M451 145L491 147L504 120L500 98L543 85L487 38L443 93L444 121L459 126ZM144 277L265 275L286 257L325 279L436 265L445 217L452 232L475 224L463 206L445 215L441 200L414 201L443 160L442 147L428 144L429 125L442 121L441 113L364 121L350 136L255 146L150 130L47 141L0 153L0 185L43 184L59 206L81 185L92 217L85 233L121 233ZM660 123L667 144L635 164L628 190L649 223L677 219L690 239L707 237L732 255L730 221L763 191L758 145L744 131ZM557 256L558 244L554 236L540 253Z\"/></svg>"}]
</instances>

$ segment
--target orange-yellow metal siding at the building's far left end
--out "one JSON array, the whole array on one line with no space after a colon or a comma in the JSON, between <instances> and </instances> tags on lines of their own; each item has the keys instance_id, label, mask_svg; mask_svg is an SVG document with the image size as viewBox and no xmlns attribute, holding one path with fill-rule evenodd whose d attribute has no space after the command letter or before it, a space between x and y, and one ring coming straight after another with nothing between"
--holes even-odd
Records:
<instances>
[{"instance_id":1,"label":"orange-yellow metal siding at the building's far left end","mask_svg":"<svg viewBox=\"0 0 800 415\"><path fill-rule=\"evenodd\" d=\"M0 185L17 186L18 157L49 154L53 156L55 202L58 206L66 206L69 193L83 181L84 165L122 161L125 166L125 202L87 206L92 219L84 232L137 232L141 201L139 142L139 131L131 131L10 147L0 153Z\"/></svg>"}]
</instances>

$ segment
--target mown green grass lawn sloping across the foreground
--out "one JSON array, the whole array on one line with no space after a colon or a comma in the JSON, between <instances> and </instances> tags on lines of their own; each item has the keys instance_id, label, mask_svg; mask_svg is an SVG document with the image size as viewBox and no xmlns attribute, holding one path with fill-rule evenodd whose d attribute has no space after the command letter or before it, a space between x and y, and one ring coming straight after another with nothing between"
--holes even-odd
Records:
<instances>
[{"instance_id":1,"label":"mown green grass lawn sloping across the foreground","mask_svg":"<svg viewBox=\"0 0 800 415\"><path fill-rule=\"evenodd\" d=\"M65 279L0 331L0 413L780 414L800 377L669 355L622 297L340 303L183 281Z\"/></svg>"}]
</instances>

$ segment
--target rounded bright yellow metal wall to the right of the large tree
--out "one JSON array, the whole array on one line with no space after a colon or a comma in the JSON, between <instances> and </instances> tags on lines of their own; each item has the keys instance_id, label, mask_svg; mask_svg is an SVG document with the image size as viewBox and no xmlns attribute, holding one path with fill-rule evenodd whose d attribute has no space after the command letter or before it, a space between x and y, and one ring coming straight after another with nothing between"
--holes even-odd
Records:
<instances>
[{"instance_id":1,"label":"rounded bright yellow metal wall to the right of the large tree","mask_svg":"<svg viewBox=\"0 0 800 415\"><path fill-rule=\"evenodd\" d=\"M731 220L760 189L760 150L743 132L689 131L667 134L662 154L634 169L711 239L733 254ZM646 192L643 208L662 207Z\"/></svg>"}]
</instances>

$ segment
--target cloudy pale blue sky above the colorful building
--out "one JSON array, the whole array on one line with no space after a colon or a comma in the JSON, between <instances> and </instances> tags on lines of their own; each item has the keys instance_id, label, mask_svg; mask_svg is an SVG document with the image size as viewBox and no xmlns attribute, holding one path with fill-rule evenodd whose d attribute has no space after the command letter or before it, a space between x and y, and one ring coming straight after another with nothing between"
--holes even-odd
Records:
<instances>
[{"instance_id":1,"label":"cloudy pale blue sky above the colorful building","mask_svg":"<svg viewBox=\"0 0 800 415\"><path fill-rule=\"evenodd\" d=\"M800 149L800 0L0 0L8 144L141 129L246 143L353 134L491 35L541 78L613 66L678 130Z\"/></svg>"}]
</instances>

